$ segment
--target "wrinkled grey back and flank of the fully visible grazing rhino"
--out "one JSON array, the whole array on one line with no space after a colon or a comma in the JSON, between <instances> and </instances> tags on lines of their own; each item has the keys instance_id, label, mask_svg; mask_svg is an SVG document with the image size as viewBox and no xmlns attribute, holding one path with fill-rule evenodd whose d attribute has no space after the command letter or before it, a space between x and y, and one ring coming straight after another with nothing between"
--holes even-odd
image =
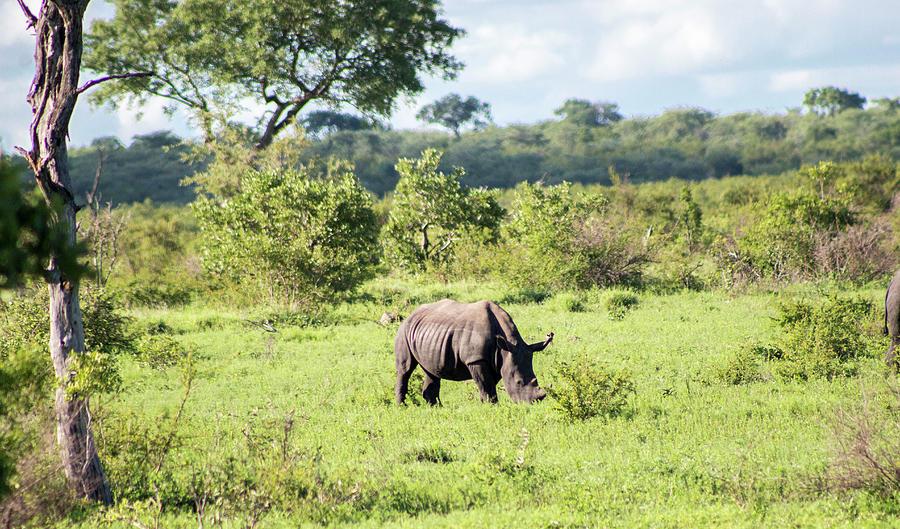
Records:
<instances>
[{"instance_id":1,"label":"wrinkled grey back and flank of the fully visible grazing rhino","mask_svg":"<svg viewBox=\"0 0 900 529\"><path fill-rule=\"evenodd\" d=\"M448 380L471 378L467 364L493 361L499 329L489 302L445 299L422 305L398 330L405 346L425 371ZM398 345L395 344L395 347Z\"/></svg>"}]
</instances>

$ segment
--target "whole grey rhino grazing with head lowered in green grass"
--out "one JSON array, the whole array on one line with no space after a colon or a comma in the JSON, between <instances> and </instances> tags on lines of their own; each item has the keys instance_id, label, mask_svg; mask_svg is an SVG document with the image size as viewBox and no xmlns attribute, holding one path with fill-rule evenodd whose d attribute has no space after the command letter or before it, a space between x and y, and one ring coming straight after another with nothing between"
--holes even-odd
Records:
<instances>
[{"instance_id":1,"label":"whole grey rhino grazing with head lowered in green grass","mask_svg":"<svg viewBox=\"0 0 900 529\"><path fill-rule=\"evenodd\" d=\"M417 365L425 371L422 396L439 402L441 379L475 381L481 400L497 402L497 383L515 402L547 396L538 385L531 360L553 339L528 345L505 310L492 301L459 303L444 299L420 306L400 325L394 340L395 392L403 404L409 377Z\"/></svg>"}]
</instances>

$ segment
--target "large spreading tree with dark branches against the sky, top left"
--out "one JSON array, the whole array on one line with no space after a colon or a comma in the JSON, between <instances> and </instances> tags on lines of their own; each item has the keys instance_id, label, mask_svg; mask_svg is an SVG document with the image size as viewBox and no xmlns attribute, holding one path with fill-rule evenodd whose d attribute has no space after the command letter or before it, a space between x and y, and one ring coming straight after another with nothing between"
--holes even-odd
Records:
<instances>
[{"instance_id":1,"label":"large spreading tree with dark branches against the sky, top left","mask_svg":"<svg viewBox=\"0 0 900 529\"><path fill-rule=\"evenodd\" d=\"M187 107L207 139L217 119L246 102L261 108L254 129L265 149L312 101L388 115L422 74L452 79L448 50L462 30L437 0L113 0L95 21L85 65L109 74L150 71L105 86L92 100Z\"/></svg>"}]
</instances>

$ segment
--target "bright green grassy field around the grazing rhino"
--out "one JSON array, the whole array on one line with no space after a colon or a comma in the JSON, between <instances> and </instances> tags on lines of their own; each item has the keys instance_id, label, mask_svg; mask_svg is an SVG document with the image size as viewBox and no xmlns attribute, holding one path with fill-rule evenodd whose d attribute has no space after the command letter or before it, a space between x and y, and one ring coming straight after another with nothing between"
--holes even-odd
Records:
<instances>
[{"instance_id":1,"label":"bright green grassy field around the grazing rhino","mask_svg":"<svg viewBox=\"0 0 900 529\"><path fill-rule=\"evenodd\" d=\"M717 376L742 345L775 338L780 299L814 299L812 288L638 293L619 319L604 308L610 292L602 290L537 302L500 285L381 280L364 292L316 316L195 306L133 312L139 325L164 322L193 349L197 374L163 457L159 446L185 392L180 371L123 359L126 391L94 401L98 437L120 495L155 492L133 492L81 525L900 525L896 498L821 487L835 458L837 410L857 409L864 393L877 404L888 378L880 358L831 381L783 380L767 365L750 384ZM883 291L858 294L878 302ZM442 384L442 407L420 398L397 406L399 324L379 317L445 296L500 301L528 341L554 332L535 355L542 385L558 384L556 366L573 358L627 370L635 392L625 412L570 422L549 398L515 405L501 390L498 404L482 404L471 382ZM277 332L247 321L265 318ZM159 470L135 470L157 463Z\"/></svg>"}]
</instances>

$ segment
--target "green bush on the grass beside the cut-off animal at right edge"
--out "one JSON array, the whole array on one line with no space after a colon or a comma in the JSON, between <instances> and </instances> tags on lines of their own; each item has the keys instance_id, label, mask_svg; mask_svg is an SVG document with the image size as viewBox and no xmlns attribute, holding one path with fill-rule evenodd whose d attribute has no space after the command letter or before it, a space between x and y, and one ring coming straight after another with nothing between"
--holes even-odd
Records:
<instances>
[{"instance_id":1,"label":"green bush on the grass beside the cut-off animal at right edge","mask_svg":"<svg viewBox=\"0 0 900 529\"><path fill-rule=\"evenodd\" d=\"M778 308L784 357L777 372L788 378L851 375L854 360L873 356L875 306L863 299L828 296L810 303L789 301Z\"/></svg>"}]
</instances>

